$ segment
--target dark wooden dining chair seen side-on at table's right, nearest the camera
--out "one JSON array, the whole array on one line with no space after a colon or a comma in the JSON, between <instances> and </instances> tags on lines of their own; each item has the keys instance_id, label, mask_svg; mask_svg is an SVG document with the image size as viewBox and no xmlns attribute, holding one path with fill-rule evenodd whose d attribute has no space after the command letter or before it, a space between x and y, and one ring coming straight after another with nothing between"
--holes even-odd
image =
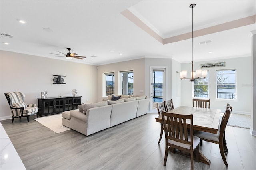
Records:
<instances>
[{"instance_id":1,"label":"dark wooden dining chair seen side-on at table's right, nearest the camera","mask_svg":"<svg viewBox=\"0 0 256 170\"><path fill-rule=\"evenodd\" d=\"M218 131L217 134L202 132L202 131L199 131L196 134L194 134L194 136L199 137L201 140L218 144L220 148L220 154L221 154L222 160L226 166L228 166L228 162L226 160L225 153L224 153L224 148L225 148L224 136L225 136L225 129L226 129L226 125L228 123L230 114L231 114L230 106L227 106L223 119L220 124L220 131Z\"/></svg>"}]
</instances>

